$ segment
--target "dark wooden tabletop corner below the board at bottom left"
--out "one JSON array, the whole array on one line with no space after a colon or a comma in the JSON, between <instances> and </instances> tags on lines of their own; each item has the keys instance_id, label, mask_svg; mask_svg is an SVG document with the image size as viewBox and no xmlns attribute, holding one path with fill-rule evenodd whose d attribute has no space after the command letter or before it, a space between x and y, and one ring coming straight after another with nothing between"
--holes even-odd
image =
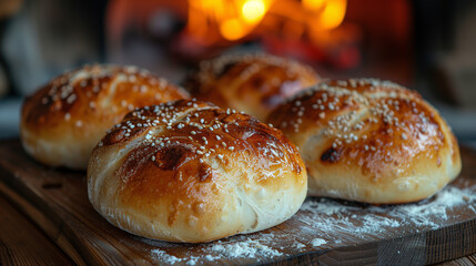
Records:
<instances>
[{"instance_id":1,"label":"dark wooden tabletop corner below the board at bottom left","mask_svg":"<svg viewBox=\"0 0 476 266\"><path fill-rule=\"evenodd\" d=\"M73 265L3 195L0 195L0 265Z\"/></svg>"}]
</instances>

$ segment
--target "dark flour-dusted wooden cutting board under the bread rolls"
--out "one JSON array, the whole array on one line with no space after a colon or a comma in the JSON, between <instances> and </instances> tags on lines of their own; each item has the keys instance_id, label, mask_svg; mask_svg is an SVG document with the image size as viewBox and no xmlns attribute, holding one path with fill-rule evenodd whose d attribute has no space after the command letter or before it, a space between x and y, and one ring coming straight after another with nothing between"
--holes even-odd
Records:
<instances>
[{"instance_id":1,"label":"dark flour-dusted wooden cutting board under the bread rolls","mask_svg":"<svg viewBox=\"0 0 476 266\"><path fill-rule=\"evenodd\" d=\"M45 167L19 141L0 142L0 191L79 265L434 264L476 253L476 153L424 202L371 206L307 198L273 228L207 244L145 239L91 206L85 173Z\"/></svg>"}]
</instances>

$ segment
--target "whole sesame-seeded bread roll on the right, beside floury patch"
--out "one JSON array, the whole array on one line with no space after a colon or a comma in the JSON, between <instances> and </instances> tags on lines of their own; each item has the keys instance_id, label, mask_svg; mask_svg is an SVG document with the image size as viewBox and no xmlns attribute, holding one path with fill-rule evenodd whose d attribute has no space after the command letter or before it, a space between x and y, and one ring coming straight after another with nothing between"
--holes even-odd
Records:
<instances>
[{"instance_id":1,"label":"whole sesame-seeded bread roll on the right, beside floury patch","mask_svg":"<svg viewBox=\"0 0 476 266\"><path fill-rule=\"evenodd\" d=\"M321 83L278 106L269 122L300 149L310 195L415 202L462 168L456 139L438 112L388 81Z\"/></svg>"}]
</instances>

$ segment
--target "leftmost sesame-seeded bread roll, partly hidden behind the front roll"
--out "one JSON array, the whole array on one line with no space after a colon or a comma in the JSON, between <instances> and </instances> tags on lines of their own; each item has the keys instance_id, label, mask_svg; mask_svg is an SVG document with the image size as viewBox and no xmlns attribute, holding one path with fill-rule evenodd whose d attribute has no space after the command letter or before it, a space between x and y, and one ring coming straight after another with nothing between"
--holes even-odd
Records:
<instances>
[{"instance_id":1,"label":"leftmost sesame-seeded bread roll, partly hidden behind the front roll","mask_svg":"<svg viewBox=\"0 0 476 266\"><path fill-rule=\"evenodd\" d=\"M24 150L51 166L85 170L92 149L135 108L188 98L134 66L92 65L57 76L22 106Z\"/></svg>"}]
</instances>

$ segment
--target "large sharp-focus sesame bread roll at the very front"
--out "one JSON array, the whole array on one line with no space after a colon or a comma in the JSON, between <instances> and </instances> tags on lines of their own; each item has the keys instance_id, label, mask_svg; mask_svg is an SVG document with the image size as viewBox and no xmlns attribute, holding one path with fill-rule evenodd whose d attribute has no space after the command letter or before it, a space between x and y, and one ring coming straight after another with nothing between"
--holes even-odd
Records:
<instances>
[{"instance_id":1,"label":"large sharp-focus sesame bread roll at the very front","mask_svg":"<svg viewBox=\"0 0 476 266\"><path fill-rule=\"evenodd\" d=\"M92 153L88 193L124 231L198 243L290 218L306 180L296 147L278 130L181 100L136 110L114 126Z\"/></svg>"}]
</instances>

